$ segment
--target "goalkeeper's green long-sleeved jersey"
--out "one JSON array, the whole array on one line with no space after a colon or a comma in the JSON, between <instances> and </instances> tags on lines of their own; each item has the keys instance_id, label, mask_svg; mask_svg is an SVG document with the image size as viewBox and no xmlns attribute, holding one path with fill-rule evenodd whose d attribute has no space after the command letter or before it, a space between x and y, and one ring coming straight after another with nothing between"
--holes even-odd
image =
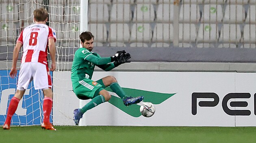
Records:
<instances>
[{"instance_id":1,"label":"goalkeeper's green long-sleeved jersey","mask_svg":"<svg viewBox=\"0 0 256 143\"><path fill-rule=\"evenodd\" d=\"M113 62L111 63L111 57L100 57L97 53L90 52L86 48L79 48L74 55L72 63L72 84L84 78L91 79L95 65L105 71L109 71L115 67Z\"/></svg>"}]
</instances>

